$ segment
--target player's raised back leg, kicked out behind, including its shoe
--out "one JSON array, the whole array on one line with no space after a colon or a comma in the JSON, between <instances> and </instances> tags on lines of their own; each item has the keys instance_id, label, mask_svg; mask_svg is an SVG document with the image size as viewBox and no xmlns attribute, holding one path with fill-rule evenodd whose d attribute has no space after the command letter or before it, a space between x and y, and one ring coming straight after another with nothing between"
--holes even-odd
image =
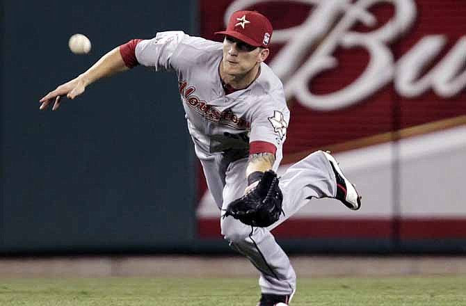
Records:
<instances>
[{"instance_id":1,"label":"player's raised back leg, kicked out behind, including its shoe","mask_svg":"<svg viewBox=\"0 0 466 306\"><path fill-rule=\"evenodd\" d=\"M311 198L336 198L355 210L360 207L360 195L344 176L337 161L323 151L316 151L288 168L280 177L284 216L273 223L273 230L284 220L309 203Z\"/></svg>"}]
</instances>

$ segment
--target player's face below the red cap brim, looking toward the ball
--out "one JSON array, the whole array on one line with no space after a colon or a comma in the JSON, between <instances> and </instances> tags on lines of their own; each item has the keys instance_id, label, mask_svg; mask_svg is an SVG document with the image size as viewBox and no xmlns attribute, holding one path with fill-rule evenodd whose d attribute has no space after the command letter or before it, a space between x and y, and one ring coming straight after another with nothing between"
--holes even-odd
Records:
<instances>
[{"instance_id":1,"label":"player's face below the red cap brim, looking toward the ball","mask_svg":"<svg viewBox=\"0 0 466 306\"><path fill-rule=\"evenodd\" d=\"M223 70L227 74L246 75L267 56L268 49L248 45L230 36L223 40Z\"/></svg>"}]
</instances>

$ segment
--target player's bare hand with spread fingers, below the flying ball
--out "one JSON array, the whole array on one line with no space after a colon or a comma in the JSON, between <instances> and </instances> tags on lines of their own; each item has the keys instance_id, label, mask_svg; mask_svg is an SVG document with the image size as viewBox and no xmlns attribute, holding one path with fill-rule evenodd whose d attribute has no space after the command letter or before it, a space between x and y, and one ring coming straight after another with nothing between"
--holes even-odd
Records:
<instances>
[{"instance_id":1,"label":"player's bare hand with spread fingers, below the flying ball","mask_svg":"<svg viewBox=\"0 0 466 306\"><path fill-rule=\"evenodd\" d=\"M55 111L58 107L60 107L61 98L63 96L66 95L68 99L74 99L75 97L81 95L84 90L86 90L86 82L83 77L80 76L76 79L72 79L71 81L58 86L55 90L52 90L47 95L42 97L42 99L39 100L41 103L40 110L43 111L47 109L49 104L54 102L54 106L52 106L51 110Z\"/></svg>"}]
</instances>

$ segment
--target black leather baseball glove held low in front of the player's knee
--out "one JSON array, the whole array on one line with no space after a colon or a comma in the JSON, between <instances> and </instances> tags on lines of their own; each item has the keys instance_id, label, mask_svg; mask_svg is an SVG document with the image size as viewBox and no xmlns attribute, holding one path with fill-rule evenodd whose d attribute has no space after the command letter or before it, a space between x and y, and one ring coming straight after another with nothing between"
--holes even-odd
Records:
<instances>
[{"instance_id":1,"label":"black leather baseball glove held low in front of the player's knee","mask_svg":"<svg viewBox=\"0 0 466 306\"><path fill-rule=\"evenodd\" d=\"M223 218L232 216L247 225L268 227L284 214L282 202L277 174L267 170L257 186L228 204Z\"/></svg>"}]
</instances>

